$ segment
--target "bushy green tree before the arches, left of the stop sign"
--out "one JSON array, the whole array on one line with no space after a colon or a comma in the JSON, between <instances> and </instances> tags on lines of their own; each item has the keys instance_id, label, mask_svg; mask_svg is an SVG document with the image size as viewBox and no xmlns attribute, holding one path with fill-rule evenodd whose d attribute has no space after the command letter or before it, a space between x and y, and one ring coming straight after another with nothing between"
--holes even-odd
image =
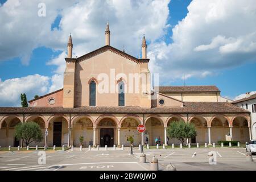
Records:
<instances>
[{"instance_id":1,"label":"bushy green tree before the arches, left of the stop sign","mask_svg":"<svg viewBox=\"0 0 256 182\"><path fill-rule=\"evenodd\" d=\"M43 134L38 123L26 122L19 123L15 126L16 139L23 139L23 142L28 146L32 142L42 142Z\"/></svg>"}]
</instances>

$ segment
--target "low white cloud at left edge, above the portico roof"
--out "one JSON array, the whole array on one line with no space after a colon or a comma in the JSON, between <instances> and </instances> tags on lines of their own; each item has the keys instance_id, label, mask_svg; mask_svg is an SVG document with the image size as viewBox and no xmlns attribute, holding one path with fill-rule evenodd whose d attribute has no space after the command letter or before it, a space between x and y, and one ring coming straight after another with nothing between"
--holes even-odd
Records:
<instances>
[{"instance_id":1,"label":"low white cloud at left edge, above the portico roof","mask_svg":"<svg viewBox=\"0 0 256 182\"><path fill-rule=\"evenodd\" d=\"M12 78L5 81L0 79L0 106L20 106L20 94L26 93L27 99L48 91L49 77L29 75Z\"/></svg>"}]
</instances>

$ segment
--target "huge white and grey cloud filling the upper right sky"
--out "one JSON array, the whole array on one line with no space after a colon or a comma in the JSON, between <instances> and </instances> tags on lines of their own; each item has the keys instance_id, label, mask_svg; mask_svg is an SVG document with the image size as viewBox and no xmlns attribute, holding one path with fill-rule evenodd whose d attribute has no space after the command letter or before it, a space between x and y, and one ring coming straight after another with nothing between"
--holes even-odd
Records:
<instances>
[{"instance_id":1,"label":"huge white and grey cloud filling the upper right sky","mask_svg":"<svg viewBox=\"0 0 256 182\"><path fill-rule=\"evenodd\" d=\"M149 46L151 71L171 81L255 61L255 12L253 0L192 1L187 16L172 28L172 43Z\"/></svg>"}]
</instances>

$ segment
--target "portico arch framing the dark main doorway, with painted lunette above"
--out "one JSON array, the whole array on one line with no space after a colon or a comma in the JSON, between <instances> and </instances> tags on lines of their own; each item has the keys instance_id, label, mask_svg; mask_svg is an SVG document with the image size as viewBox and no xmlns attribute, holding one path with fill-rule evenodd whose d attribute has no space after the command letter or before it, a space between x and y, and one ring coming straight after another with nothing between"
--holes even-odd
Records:
<instances>
[{"instance_id":1,"label":"portico arch framing the dark main doorway, with painted lunette above","mask_svg":"<svg viewBox=\"0 0 256 182\"><path fill-rule=\"evenodd\" d=\"M116 127L115 122L110 118L104 118L98 123L101 147L113 147Z\"/></svg>"}]
</instances>

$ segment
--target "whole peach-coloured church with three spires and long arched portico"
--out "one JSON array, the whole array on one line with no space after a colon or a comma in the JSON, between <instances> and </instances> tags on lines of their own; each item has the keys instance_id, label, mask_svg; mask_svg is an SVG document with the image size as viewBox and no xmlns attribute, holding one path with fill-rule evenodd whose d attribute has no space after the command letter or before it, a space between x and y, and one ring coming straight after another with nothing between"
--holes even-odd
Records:
<instances>
[{"instance_id":1,"label":"whole peach-coloured church with three spires and long arched portico","mask_svg":"<svg viewBox=\"0 0 256 182\"><path fill-rule=\"evenodd\" d=\"M63 89L29 101L29 107L0 107L0 146L22 146L15 140L18 123L36 122L48 135L31 146L129 146L150 145L159 138L162 144L179 144L170 139L171 122L194 123L197 131L189 143L208 144L226 140L241 143L251 139L250 112L222 102L216 86L155 86L151 90L146 39L142 40L142 58L110 46L109 24L105 46L72 57L72 38L68 40ZM141 134L137 126L143 124Z\"/></svg>"}]
</instances>

